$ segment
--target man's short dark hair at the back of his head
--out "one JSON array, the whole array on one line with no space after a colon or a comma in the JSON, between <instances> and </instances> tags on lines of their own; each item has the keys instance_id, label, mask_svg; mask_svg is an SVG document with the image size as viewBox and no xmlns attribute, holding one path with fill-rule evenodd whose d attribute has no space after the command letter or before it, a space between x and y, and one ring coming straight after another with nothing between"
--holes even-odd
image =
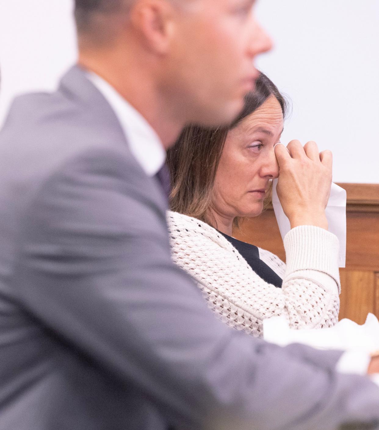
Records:
<instances>
[{"instance_id":1,"label":"man's short dark hair at the back of his head","mask_svg":"<svg viewBox=\"0 0 379 430\"><path fill-rule=\"evenodd\" d=\"M75 0L75 21L79 33L91 31L94 18L117 12L125 0Z\"/></svg>"}]
</instances>

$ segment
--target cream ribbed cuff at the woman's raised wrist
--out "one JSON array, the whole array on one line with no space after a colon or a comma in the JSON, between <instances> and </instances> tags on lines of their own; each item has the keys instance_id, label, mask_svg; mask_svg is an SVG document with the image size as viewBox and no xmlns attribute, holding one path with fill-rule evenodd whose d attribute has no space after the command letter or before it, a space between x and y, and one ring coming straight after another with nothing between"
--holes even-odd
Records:
<instances>
[{"instance_id":1,"label":"cream ribbed cuff at the woman's raised wrist","mask_svg":"<svg viewBox=\"0 0 379 430\"><path fill-rule=\"evenodd\" d=\"M340 242L333 233L313 225L300 225L284 237L285 277L297 270L318 270L334 278L340 289L338 252Z\"/></svg>"}]
</instances>

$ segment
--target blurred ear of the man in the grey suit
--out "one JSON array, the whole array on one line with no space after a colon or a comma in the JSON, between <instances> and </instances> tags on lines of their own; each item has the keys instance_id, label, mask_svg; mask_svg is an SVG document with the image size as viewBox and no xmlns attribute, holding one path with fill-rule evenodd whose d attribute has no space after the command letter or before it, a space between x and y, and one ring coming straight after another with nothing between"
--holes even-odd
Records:
<instances>
[{"instance_id":1,"label":"blurred ear of the man in the grey suit","mask_svg":"<svg viewBox=\"0 0 379 430\"><path fill-rule=\"evenodd\" d=\"M140 0L130 12L130 22L146 48L164 55L175 28L175 10L167 0Z\"/></svg>"}]
</instances>

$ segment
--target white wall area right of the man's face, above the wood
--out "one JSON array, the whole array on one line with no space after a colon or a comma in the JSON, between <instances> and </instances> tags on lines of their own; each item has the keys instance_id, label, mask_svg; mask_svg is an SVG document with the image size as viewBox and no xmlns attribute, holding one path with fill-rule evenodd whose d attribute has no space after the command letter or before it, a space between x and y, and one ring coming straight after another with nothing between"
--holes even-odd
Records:
<instances>
[{"instance_id":1,"label":"white wall area right of the man's face, above the wood","mask_svg":"<svg viewBox=\"0 0 379 430\"><path fill-rule=\"evenodd\" d=\"M258 61L293 103L282 141L334 153L334 181L379 183L379 0L260 0Z\"/></svg>"}]
</instances>

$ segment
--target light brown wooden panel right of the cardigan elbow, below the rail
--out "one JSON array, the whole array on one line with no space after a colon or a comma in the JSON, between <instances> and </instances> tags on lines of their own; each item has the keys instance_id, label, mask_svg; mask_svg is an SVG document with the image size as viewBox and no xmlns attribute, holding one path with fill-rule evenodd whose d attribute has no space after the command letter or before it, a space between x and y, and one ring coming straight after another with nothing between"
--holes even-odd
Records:
<instances>
[{"instance_id":1,"label":"light brown wooden panel right of the cardigan elbow, below the rail","mask_svg":"<svg viewBox=\"0 0 379 430\"><path fill-rule=\"evenodd\" d=\"M340 319L349 318L363 324L367 313L376 313L376 276L374 272L340 270ZM379 317L379 314L376 313Z\"/></svg>"}]
</instances>

